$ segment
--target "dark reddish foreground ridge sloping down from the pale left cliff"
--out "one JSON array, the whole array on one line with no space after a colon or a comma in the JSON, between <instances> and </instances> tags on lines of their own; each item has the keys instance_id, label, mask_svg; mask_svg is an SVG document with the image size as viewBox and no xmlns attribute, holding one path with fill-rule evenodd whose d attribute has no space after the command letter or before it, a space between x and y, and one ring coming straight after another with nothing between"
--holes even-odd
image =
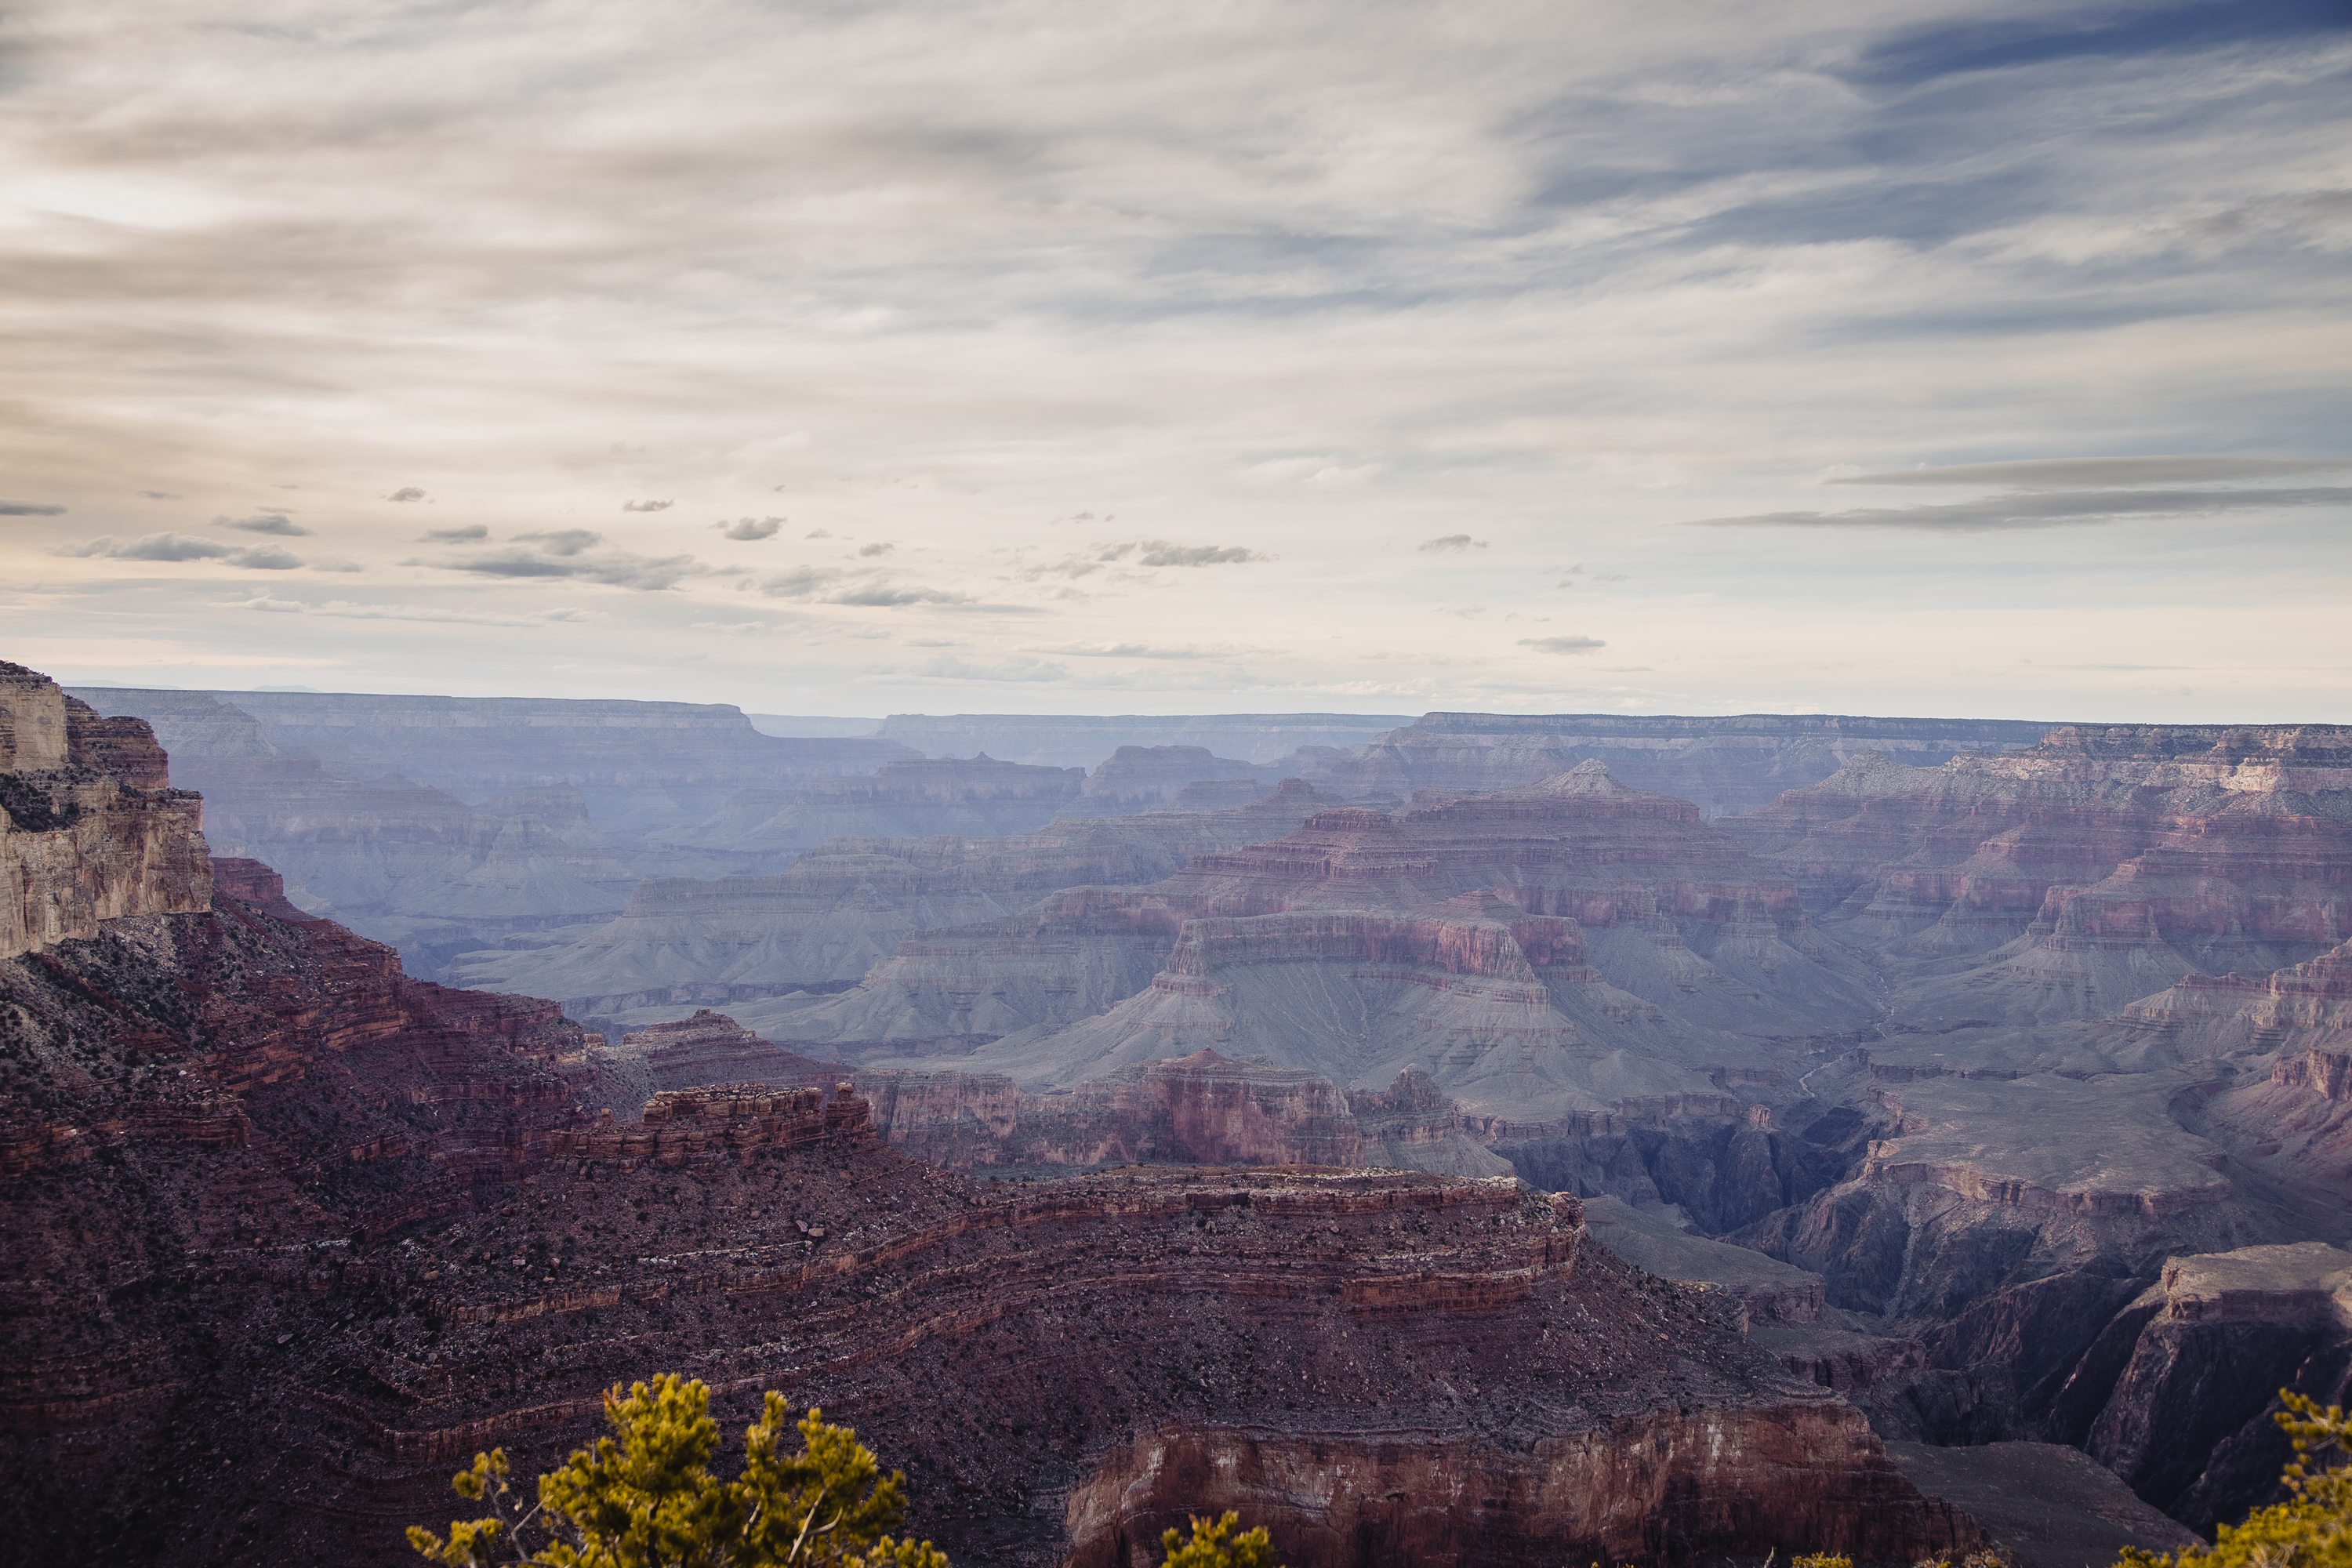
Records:
<instances>
[{"instance_id":1,"label":"dark reddish foreground ridge sloping down from the pale left cliff","mask_svg":"<svg viewBox=\"0 0 2352 1568\"><path fill-rule=\"evenodd\" d=\"M710 1016L623 1053L762 1060ZM781 1387L854 1422L957 1561L1124 1563L1228 1505L1310 1568L1980 1540L1710 1295L1592 1246L1573 1197L976 1185L887 1147L847 1084L621 1117L600 1056L553 1004L402 976L252 860L0 959L12 1559L412 1561L452 1465L541 1467L654 1368L729 1418Z\"/></svg>"}]
</instances>

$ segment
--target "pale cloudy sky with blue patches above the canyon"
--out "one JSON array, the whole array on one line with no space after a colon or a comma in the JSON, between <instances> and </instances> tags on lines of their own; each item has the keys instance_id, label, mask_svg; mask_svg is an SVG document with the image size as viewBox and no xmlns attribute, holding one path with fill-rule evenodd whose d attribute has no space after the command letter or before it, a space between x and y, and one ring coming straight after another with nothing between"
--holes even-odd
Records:
<instances>
[{"instance_id":1,"label":"pale cloudy sky with blue patches above the canyon","mask_svg":"<svg viewBox=\"0 0 2352 1568\"><path fill-rule=\"evenodd\" d=\"M0 12L0 658L2352 722L2352 0Z\"/></svg>"}]
</instances>

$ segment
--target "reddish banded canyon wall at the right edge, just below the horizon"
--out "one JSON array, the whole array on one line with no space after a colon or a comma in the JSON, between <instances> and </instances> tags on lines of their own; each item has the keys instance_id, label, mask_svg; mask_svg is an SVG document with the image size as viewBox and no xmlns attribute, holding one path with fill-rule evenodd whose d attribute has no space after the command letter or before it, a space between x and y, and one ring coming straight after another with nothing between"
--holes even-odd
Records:
<instances>
[{"instance_id":1,"label":"reddish banded canyon wall at the right edge, just below the horizon","mask_svg":"<svg viewBox=\"0 0 2352 1568\"><path fill-rule=\"evenodd\" d=\"M2103 1018L2352 936L2352 731L2056 729L1940 769L1858 759L1738 825L1832 929L1922 973L1905 1011Z\"/></svg>"}]
</instances>

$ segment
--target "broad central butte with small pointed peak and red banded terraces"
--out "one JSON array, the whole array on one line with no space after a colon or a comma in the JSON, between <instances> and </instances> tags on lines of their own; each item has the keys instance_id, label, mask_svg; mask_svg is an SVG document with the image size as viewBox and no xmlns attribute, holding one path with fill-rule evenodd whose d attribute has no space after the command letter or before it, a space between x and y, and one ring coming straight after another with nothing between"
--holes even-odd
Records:
<instances>
[{"instance_id":1,"label":"broad central butte with small pointed peak and red banded terraces","mask_svg":"<svg viewBox=\"0 0 2352 1568\"><path fill-rule=\"evenodd\" d=\"M760 1025L875 1065L896 1060L894 1039L1000 1034L971 1060L1030 1086L1200 1048L1350 1088L1421 1067L1475 1114L1541 1121L1719 1100L1710 1070L1752 1063L1757 1039L1877 1011L1795 884L1691 804L1625 790L1597 764L1397 816L1322 811L1150 889L1068 893L1025 919L1065 983L997 987L990 1009L950 1020L962 1030L882 1006L884 985L920 994L917 943L936 952L964 936L953 931L910 940L856 992ZM1091 1016L1070 1020L1073 999Z\"/></svg>"}]
</instances>

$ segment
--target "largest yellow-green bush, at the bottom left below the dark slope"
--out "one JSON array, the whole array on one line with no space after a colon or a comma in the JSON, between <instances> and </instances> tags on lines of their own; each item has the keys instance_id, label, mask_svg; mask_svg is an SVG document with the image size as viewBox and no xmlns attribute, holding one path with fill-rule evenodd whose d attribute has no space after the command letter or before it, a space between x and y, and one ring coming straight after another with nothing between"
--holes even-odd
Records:
<instances>
[{"instance_id":1,"label":"largest yellow-green bush, at the bottom left below the dark slope","mask_svg":"<svg viewBox=\"0 0 2352 1568\"><path fill-rule=\"evenodd\" d=\"M677 1375L604 1394L612 1436L539 1476L536 1497L508 1479L503 1448L456 1474L459 1497L489 1512L447 1535L409 1528L409 1544L449 1568L948 1568L931 1542L891 1535L906 1521L906 1476L882 1474L856 1432L809 1410L790 1420L767 1394L743 1432L743 1474L710 1474L720 1427L710 1389ZM788 1427L800 1450L783 1453Z\"/></svg>"}]
</instances>

